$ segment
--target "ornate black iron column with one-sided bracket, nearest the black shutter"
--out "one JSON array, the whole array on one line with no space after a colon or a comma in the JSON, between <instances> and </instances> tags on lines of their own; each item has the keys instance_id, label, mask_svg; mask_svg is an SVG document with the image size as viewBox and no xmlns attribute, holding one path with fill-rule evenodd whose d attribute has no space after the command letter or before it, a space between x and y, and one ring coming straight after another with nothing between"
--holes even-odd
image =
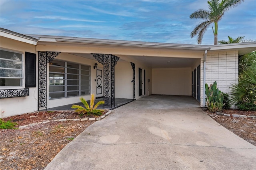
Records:
<instances>
[{"instance_id":1,"label":"ornate black iron column with one-sided bracket, nearest the black shutter","mask_svg":"<svg viewBox=\"0 0 256 170\"><path fill-rule=\"evenodd\" d=\"M39 63L38 63L38 110L41 107L46 108L46 99L47 99L47 63L51 62L60 52L48 52L48 51L39 51ZM47 109L47 108L46 108Z\"/></svg>"}]
</instances>

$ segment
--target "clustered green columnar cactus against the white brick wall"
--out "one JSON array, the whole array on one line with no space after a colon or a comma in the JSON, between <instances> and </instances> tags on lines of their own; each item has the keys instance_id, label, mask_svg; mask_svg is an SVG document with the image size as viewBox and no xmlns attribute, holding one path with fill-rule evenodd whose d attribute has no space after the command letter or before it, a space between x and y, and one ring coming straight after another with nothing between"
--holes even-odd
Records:
<instances>
[{"instance_id":1,"label":"clustered green columnar cactus against the white brick wall","mask_svg":"<svg viewBox=\"0 0 256 170\"><path fill-rule=\"evenodd\" d=\"M208 110L210 112L220 112L222 110L223 104L223 92L217 88L217 82L213 82L210 86L205 84L205 94L207 96L206 102Z\"/></svg>"}]
</instances>

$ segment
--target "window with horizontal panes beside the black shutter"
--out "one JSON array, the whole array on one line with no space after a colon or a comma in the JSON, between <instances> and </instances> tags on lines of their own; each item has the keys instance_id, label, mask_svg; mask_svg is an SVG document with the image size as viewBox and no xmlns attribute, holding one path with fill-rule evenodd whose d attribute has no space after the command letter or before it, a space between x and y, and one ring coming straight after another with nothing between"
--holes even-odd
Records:
<instances>
[{"instance_id":1,"label":"window with horizontal panes beside the black shutter","mask_svg":"<svg viewBox=\"0 0 256 170\"><path fill-rule=\"evenodd\" d=\"M0 50L0 86L22 86L22 53Z\"/></svg>"}]
</instances>

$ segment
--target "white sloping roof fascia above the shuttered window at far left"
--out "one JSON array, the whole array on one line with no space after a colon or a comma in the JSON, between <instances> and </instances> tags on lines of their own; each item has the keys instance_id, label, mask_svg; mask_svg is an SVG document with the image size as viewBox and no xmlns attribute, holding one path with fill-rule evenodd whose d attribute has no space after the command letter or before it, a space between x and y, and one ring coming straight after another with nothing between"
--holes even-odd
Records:
<instances>
[{"instance_id":1,"label":"white sloping roof fascia above the shuttered window at far left","mask_svg":"<svg viewBox=\"0 0 256 170\"><path fill-rule=\"evenodd\" d=\"M13 40L17 40L17 41L21 41L21 42L25 42L28 44L32 44L32 45L36 45L37 44L37 39L23 35L23 34L19 34L16 32L12 32L10 30L6 30L4 28L0 29L0 36L6 37L6 38L10 38Z\"/></svg>"}]
</instances>

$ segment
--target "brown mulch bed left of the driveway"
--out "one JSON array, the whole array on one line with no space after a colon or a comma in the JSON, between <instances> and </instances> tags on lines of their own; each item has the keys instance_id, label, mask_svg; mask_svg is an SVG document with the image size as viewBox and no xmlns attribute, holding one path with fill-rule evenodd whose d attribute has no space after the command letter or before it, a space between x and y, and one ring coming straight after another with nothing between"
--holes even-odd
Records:
<instances>
[{"instance_id":1,"label":"brown mulch bed left of the driveway","mask_svg":"<svg viewBox=\"0 0 256 170\"><path fill-rule=\"evenodd\" d=\"M3 118L26 124L82 116L72 111L43 111ZM78 134L95 120L50 121L20 129L0 129L0 170L43 170L47 164Z\"/></svg>"}]
</instances>

